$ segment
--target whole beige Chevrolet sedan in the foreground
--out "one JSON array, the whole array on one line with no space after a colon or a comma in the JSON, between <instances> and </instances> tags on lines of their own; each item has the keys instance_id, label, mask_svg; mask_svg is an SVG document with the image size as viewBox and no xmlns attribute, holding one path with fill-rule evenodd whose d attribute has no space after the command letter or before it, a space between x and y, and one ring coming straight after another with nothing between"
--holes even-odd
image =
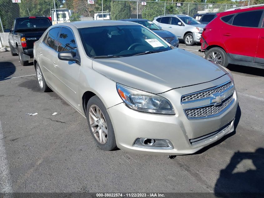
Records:
<instances>
[{"instance_id":1,"label":"whole beige Chevrolet sedan in the foreground","mask_svg":"<svg viewBox=\"0 0 264 198\"><path fill-rule=\"evenodd\" d=\"M137 23L53 25L35 42L34 65L42 91L82 114L103 150L189 154L234 130L230 71Z\"/></svg>"}]
</instances>

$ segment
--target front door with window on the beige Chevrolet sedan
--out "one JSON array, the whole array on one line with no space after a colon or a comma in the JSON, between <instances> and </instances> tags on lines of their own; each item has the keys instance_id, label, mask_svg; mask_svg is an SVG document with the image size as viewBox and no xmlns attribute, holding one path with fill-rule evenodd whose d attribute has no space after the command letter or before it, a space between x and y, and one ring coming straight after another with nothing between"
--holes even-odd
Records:
<instances>
[{"instance_id":1,"label":"front door with window on the beige Chevrolet sedan","mask_svg":"<svg viewBox=\"0 0 264 198\"><path fill-rule=\"evenodd\" d=\"M79 58L76 39L72 30L68 27L62 27L58 39L58 52L72 51L75 58ZM80 64L73 61L60 60L58 57L54 60L57 65L53 68L53 74L58 79L57 92L62 95L70 104L78 108L77 93Z\"/></svg>"}]
</instances>

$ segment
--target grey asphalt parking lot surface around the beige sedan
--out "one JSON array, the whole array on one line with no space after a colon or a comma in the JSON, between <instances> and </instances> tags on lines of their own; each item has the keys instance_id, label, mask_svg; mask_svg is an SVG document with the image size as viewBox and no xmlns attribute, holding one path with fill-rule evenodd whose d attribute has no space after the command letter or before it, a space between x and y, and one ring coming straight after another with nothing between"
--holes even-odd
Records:
<instances>
[{"instance_id":1,"label":"grey asphalt parking lot surface around the beige sedan","mask_svg":"<svg viewBox=\"0 0 264 198\"><path fill-rule=\"evenodd\" d=\"M204 55L198 45L180 48ZM264 70L228 69L239 97L235 132L168 159L100 150L86 119L40 91L32 64L0 53L0 192L264 192Z\"/></svg>"}]
</instances>

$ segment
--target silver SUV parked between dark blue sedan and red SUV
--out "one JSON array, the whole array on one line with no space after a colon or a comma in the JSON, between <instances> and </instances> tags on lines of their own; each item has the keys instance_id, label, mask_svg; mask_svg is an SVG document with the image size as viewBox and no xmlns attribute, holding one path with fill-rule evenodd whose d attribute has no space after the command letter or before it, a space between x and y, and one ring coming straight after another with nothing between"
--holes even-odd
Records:
<instances>
[{"instance_id":1,"label":"silver SUV parked between dark blue sedan and red SUV","mask_svg":"<svg viewBox=\"0 0 264 198\"><path fill-rule=\"evenodd\" d=\"M189 46L200 43L203 28L206 26L185 14L158 16L154 18L153 23L174 33Z\"/></svg>"}]
</instances>

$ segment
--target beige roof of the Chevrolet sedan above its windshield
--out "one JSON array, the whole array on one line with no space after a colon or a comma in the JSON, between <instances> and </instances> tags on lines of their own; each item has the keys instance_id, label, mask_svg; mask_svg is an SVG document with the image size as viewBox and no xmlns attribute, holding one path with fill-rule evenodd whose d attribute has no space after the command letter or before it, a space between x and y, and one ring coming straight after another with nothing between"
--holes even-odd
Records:
<instances>
[{"instance_id":1,"label":"beige roof of the Chevrolet sedan above its windshield","mask_svg":"<svg viewBox=\"0 0 264 198\"><path fill-rule=\"evenodd\" d=\"M98 26L115 26L115 25L139 25L137 23L132 23L129 21L112 21L112 20L94 20L94 21L75 21L69 23L58 23L54 26L68 26L75 28L88 28L88 27L98 27Z\"/></svg>"}]
</instances>

